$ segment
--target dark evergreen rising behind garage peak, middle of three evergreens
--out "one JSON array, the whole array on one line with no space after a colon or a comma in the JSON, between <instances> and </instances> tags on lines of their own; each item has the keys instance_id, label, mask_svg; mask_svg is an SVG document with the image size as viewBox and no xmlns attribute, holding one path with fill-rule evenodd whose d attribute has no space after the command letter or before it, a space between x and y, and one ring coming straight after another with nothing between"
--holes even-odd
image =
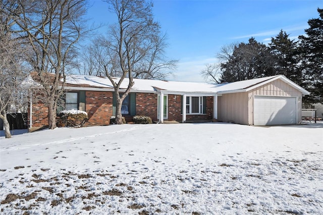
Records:
<instances>
[{"instance_id":1,"label":"dark evergreen rising behind garage peak, middle of three evergreens","mask_svg":"<svg viewBox=\"0 0 323 215\"><path fill-rule=\"evenodd\" d=\"M297 70L297 42L290 40L288 34L281 30L279 34L274 38L269 45L273 63L275 75L285 75L290 80L301 85L302 77L300 70Z\"/></svg>"}]
</instances>

